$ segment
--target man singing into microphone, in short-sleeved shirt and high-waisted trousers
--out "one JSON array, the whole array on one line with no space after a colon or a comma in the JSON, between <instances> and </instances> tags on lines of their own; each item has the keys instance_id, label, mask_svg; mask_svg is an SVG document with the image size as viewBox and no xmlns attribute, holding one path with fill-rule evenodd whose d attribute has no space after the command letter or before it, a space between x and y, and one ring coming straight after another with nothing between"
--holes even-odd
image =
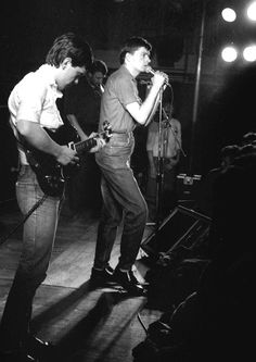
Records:
<instances>
[{"instance_id":1,"label":"man singing into microphone, in short-sleeved shirt and high-waisted trousers","mask_svg":"<svg viewBox=\"0 0 256 362\"><path fill-rule=\"evenodd\" d=\"M132 267L148 219L146 202L130 167L135 148L132 132L138 124L148 125L151 121L166 79L163 73L155 72L149 95L141 101L136 77L146 72L151 48L149 41L141 37L131 37L124 43L119 55L120 67L107 78L101 102L99 130L107 120L113 130L112 138L105 151L102 149L95 155L102 172L103 209L90 285L102 287L110 282L116 283L132 296L144 296L146 292ZM113 273L111 253L121 221L120 255Z\"/></svg>"}]
</instances>

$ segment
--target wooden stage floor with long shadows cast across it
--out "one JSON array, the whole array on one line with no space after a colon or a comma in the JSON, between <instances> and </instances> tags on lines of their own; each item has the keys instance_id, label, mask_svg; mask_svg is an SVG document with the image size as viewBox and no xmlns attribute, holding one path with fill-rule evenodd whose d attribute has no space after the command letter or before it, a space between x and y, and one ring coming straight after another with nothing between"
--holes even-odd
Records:
<instances>
[{"instance_id":1,"label":"wooden stage floor with long shadows cast across it","mask_svg":"<svg viewBox=\"0 0 256 362\"><path fill-rule=\"evenodd\" d=\"M0 216L1 237L22 220L16 205ZM132 349L144 340L145 328L163 313L149 309L145 297L127 298L112 288L89 289L98 223L89 210L73 214L64 203L48 277L35 297L31 324L35 335L56 346L54 361L131 362ZM152 227L146 227L144 238L151 234ZM21 246L22 227L0 246L0 316ZM113 267L118 255L119 234L112 254ZM143 258L141 250L135 271L142 280L148 270Z\"/></svg>"}]
</instances>

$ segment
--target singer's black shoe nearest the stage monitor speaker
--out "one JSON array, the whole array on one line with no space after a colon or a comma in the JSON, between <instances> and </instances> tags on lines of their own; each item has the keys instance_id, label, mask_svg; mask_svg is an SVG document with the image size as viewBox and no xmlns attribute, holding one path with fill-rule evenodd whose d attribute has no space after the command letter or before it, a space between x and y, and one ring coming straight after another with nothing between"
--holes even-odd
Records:
<instances>
[{"instance_id":1,"label":"singer's black shoe nearest the stage monitor speaker","mask_svg":"<svg viewBox=\"0 0 256 362\"><path fill-rule=\"evenodd\" d=\"M119 284L131 296L145 296L146 290L137 280L132 271L121 272L115 270L112 276L113 282Z\"/></svg>"}]
</instances>

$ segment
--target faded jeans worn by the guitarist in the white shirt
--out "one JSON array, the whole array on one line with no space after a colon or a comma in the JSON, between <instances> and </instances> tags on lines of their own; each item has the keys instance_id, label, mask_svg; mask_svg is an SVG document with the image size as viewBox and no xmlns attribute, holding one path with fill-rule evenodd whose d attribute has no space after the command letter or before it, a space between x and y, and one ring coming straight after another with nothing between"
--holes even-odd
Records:
<instances>
[{"instance_id":1,"label":"faded jeans worn by the guitarist in the white shirt","mask_svg":"<svg viewBox=\"0 0 256 362\"><path fill-rule=\"evenodd\" d=\"M29 166L22 166L16 183L16 198L23 215L27 214L42 196L35 173ZM60 204L60 198L48 197L23 226L22 254L0 328L7 348L18 348L29 333L33 299L47 277Z\"/></svg>"}]
</instances>

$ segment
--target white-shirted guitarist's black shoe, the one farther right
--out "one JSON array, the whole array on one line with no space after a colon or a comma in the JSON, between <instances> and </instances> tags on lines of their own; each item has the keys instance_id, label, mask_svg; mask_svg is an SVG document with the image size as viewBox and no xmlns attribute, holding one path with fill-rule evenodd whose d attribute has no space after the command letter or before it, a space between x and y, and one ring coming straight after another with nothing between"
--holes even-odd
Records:
<instances>
[{"instance_id":1,"label":"white-shirted guitarist's black shoe, the one farther right","mask_svg":"<svg viewBox=\"0 0 256 362\"><path fill-rule=\"evenodd\" d=\"M33 357L51 357L54 346L46 340L41 340L33 335L29 335L23 344L23 348Z\"/></svg>"}]
</instances>

